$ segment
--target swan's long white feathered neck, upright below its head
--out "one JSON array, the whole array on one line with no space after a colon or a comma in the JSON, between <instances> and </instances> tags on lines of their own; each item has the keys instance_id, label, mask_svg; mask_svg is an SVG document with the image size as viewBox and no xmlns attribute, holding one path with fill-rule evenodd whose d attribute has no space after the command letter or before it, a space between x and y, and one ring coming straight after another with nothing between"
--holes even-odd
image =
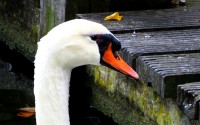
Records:
<instances>
[{"instance_id":1,"label":"swan's long white feathered neck, upright below its head","mask_svg":"<svg viewBox=\"0 0 200 125\"><path fill-rule=\"evenodd\" d=\"M70 125L68 100L71 69L51 64L36 67L34 93L37 125Z\"/></svg>"}]
</instances>

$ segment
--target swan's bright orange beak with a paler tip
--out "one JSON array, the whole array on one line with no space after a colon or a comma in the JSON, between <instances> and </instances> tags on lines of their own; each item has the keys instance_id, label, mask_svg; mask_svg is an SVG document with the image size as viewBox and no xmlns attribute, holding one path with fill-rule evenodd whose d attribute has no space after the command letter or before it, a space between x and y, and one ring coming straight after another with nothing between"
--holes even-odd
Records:
<instances>
[{"instance_id":1,"label":"swan's bright orange beak with a paler tip","mask_svg":"<svg viewBox=\"0 0 200 125\"><path fill-rule=\"evenodd\" d=\"M125 75L139 79L138 74L120 57L117 51L115 54L117 57L113 55L112 44L110 43L108 49L104 52L102 60Z\"/></svg>"}]
</instances>

